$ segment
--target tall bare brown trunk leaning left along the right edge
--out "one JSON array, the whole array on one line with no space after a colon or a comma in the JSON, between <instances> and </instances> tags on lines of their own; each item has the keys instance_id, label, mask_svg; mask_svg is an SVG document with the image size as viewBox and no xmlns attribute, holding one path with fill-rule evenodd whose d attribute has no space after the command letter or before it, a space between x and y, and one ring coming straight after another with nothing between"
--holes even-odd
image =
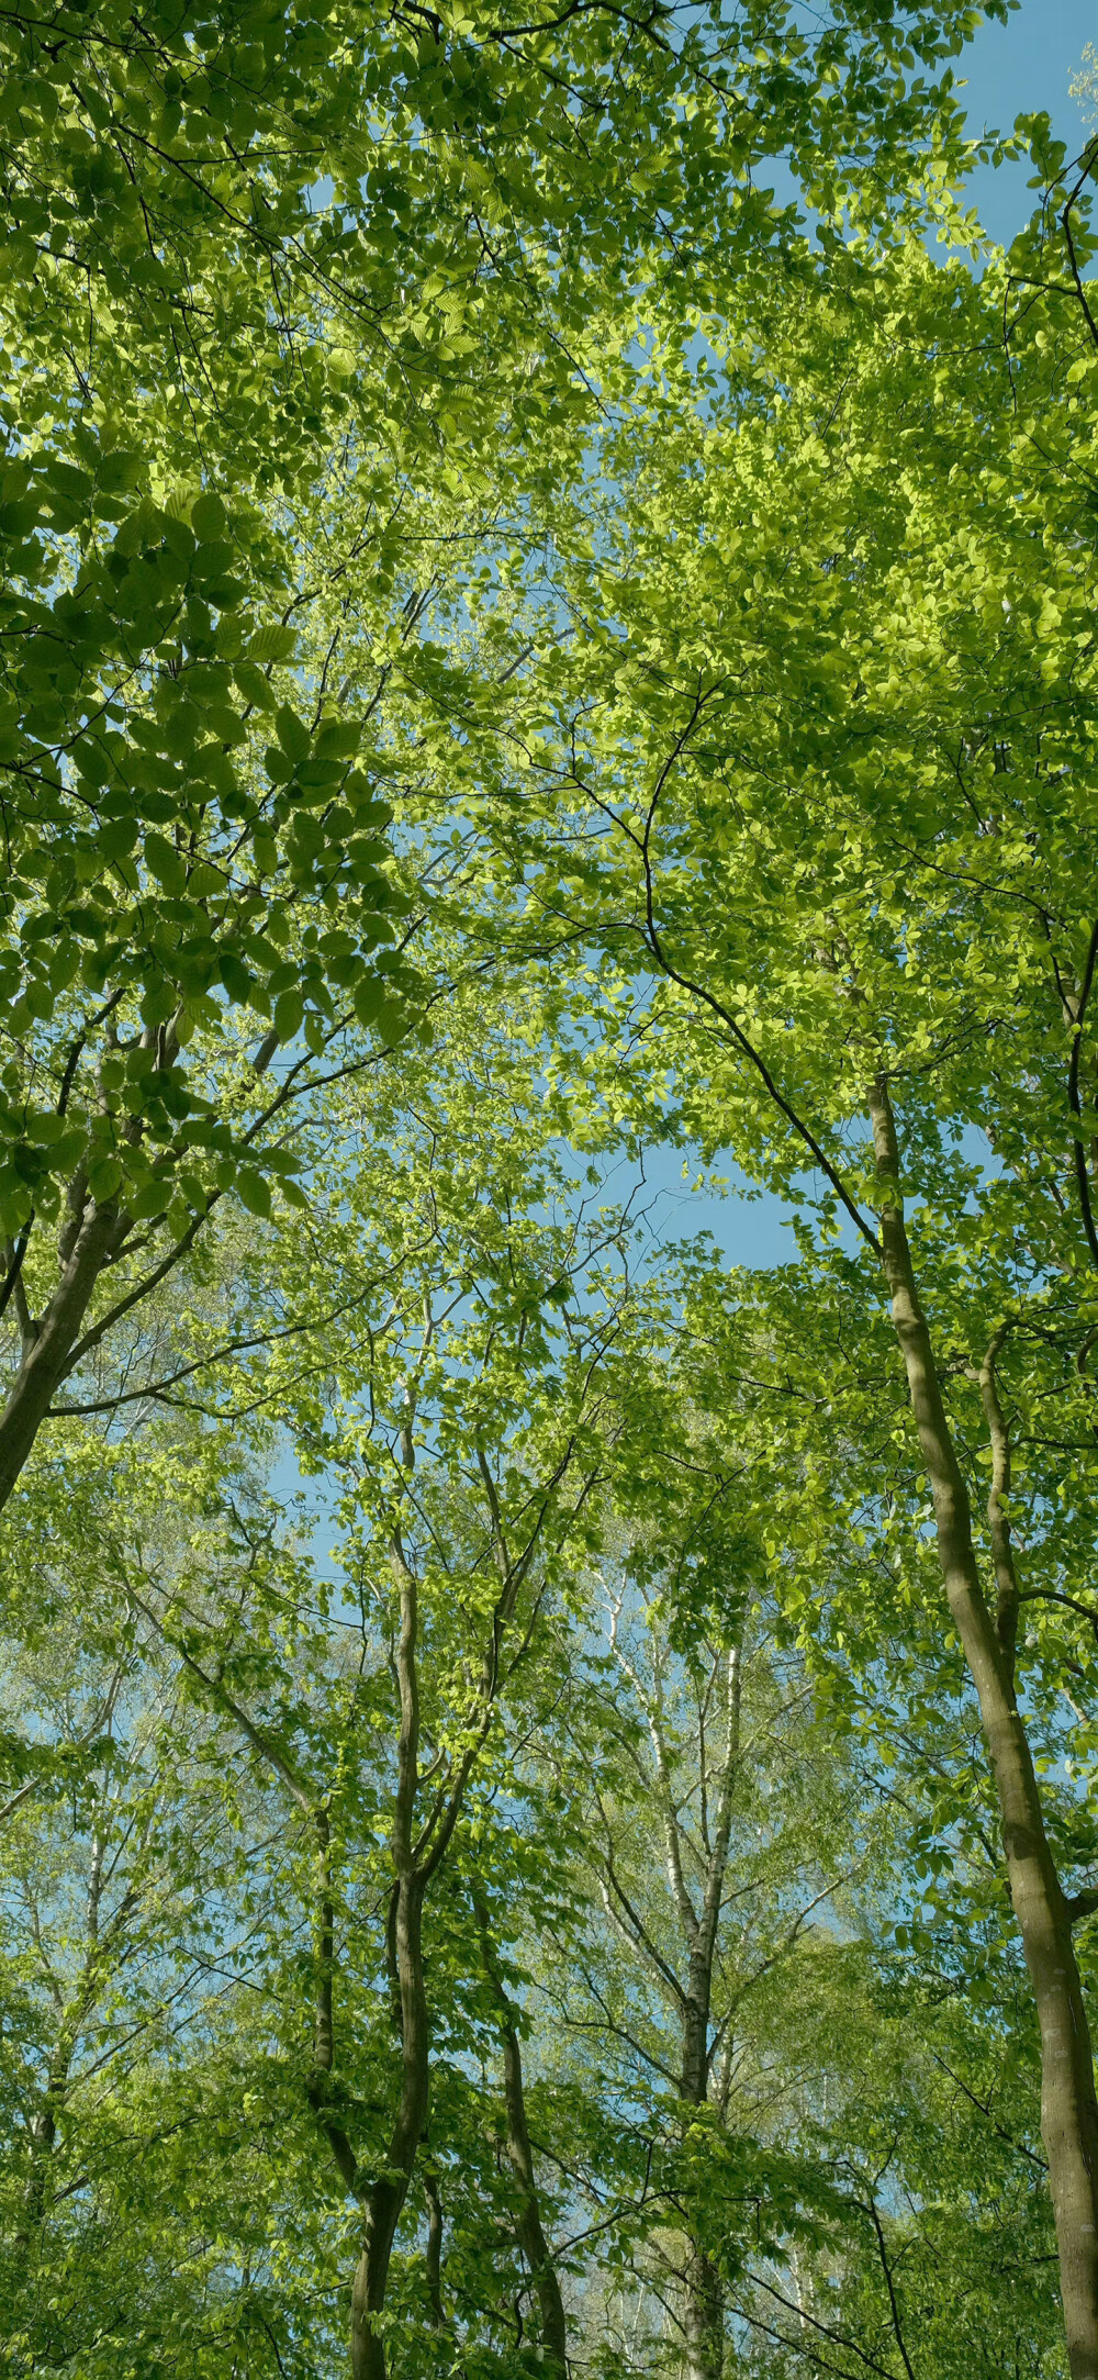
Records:
<instances>
[{"instance_id":1,"label":"tall bare brown trunk leaning left along the right edge","mask_svg":"<svg viewBox=\"0 0 1098 2380\"><path fill-rule=\"evenodd\" d=\"M1048 2154L1060 2290L1072 2380L1098 2380L1098 2099L1091 2028L1072 1944L1072 1914L1048 1847L1041 1792L1015 1702L1007 1616L988 1614L965 1478L953 1447L927 1316L919 1307L903 1221L900 1164L888 1088L869 1097L881 1200L881 1261L900 1342L922 1459L934 1495L934 1523L946 1597L979 1697L998 1792L1010 1899L1022 1935L1041 2028L1041 2135ZM988 1397L984 1399L988 1407ZM996 1528L996 1568L1003 1540ZM1003 1578L1000 1578L1003 1599Z\"/></svg>"}]
</instances>

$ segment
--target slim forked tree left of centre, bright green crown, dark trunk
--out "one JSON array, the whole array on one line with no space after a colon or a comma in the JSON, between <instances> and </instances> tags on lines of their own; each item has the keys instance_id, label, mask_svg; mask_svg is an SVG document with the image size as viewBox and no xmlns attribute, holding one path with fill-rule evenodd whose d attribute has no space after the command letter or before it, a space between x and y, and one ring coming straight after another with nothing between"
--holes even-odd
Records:
<instances>
[{"instance_id":1,"label":"slim forked tree left of centre, bright green crown, dark trunk","mask_svg":"<svg viewBox=\"0 0 1098 2380\"><path fill-rule=\"evenodd\" d=\"M479 1050L469 1047L476 1031ZM336 1609L357 1614L357 1668L348 1676L338 1649L331 1590L310 1585L293 1547L279 1545L279 1514L248 1476L233 1485L241 1418L231 1404L217 1430L183 1433L176 1457L181 1423L171 1418L160 1461L150 1426L129 1447L112 1447L83 1438L93 1421L69 1423L83 1466L81 1526L107 1566L114 1628L136 1623L141 1640L152 1633L205 1726L222 1745L236 1740L233 1766L243 1759L250 1790L283 1806L276 1837L288 1828L291 1973L298 1968L310 2035L307 2052L295 2049L305 2073L293 2130L300 2137L310 2109L324 2171L348 2202L353 2368L362 2373L386 2370L391 2259L431 2113L431 2030L453 2023L453 2002L443 2016L429 1994L441 1875L481 1766L505 1771L505 1740L493 1745L505 1711L522 1711L522 1678L541 1637L564 1628L574 1604L610 1449L629 1426L629 1373L636 1366L643 1378L645 1330L655 1328L629 1273L614 1280L607 1269L624 1226L610 1216L584 1223L572 1202L557 1221L538 1216L562 1180L560 1157L545 1147L553 1114L543 1119L541 1102L512 1097L510 1111L498 1102L493 1133L462 1138L462 1069L472 1071L469 1107L488 1066L503 1076L507 1050L484 1045L474 1014L450 1035L450 1050L424 1066L445 1102L448 1138L431 1111L417 1114L414 1085L405 1085L412 1107L403 1128L391 1119L369 1166L336 1159L326 1180L314 1180L310 1247L291 1233L281 1250L283 1285L293 1288L302 1261L326 1273L326 1385L317 1395L305 1368L276 1404L305 1461L341 1497ZM362 1088L353 1083L341 1097L357 1102L362 1123ZM381 1088L374 1123L383 1111ZM376 1178L393 1185L393 1171L403 1197L379 1207ZM357 1297L341 1297L343 1266ZM369 1316L376 1288L386 1307ZM233 1368L224 1373L231 1399ZM248 1385L245 1359L236 1388ZM260 1421L257 1449L262 1438ZM105 1497L88 1495L95 1466ZM126 1473L145 1526L119 1499L114 1483ZM29 1497L57 1495L50 1466L29 1478ZM145 1511L162 1478L171 1478L183 1523L176 1549ZM21 1499L12 1509L19 1516ZM279 1909L283 1890L279 1883ZM360 1940L372 1944L367 1968ZM274 1944L264 1956L279 1966ZM474 1997L484 1994L481 1968L484 1928L469 1921ZM491 1964L488 1980L498 1980ZM450 1992L462 1990L457 1968ZM479 2023L498 2037L495 1990ZM505 2049L510 2125L522 2135L517 2040ZM355 2080L362 2066L369 2082ZM526 2247L531 2187L526 2175L517 2223Z\"/></svg>"}]
</instances>

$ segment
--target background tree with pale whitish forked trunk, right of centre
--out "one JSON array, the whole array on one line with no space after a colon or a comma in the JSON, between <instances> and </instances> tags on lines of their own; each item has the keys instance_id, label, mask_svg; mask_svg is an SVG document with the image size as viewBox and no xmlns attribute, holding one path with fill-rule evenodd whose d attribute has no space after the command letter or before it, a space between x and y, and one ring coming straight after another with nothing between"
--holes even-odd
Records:
<instances>
[{"instance_id":1,"label":"background tree with pale whitish forked trunk, right of centre","mask_svg":"<svg viewBox=\"0 0 1098 2380\"><path fill-rule=\"evenodd\" d=\"M936 2380L991 2380L1015 2356L1060 2370L1050 2223L1034 2197L1036 2044L993 1809L972 1811L974 1718L957 1714L950 1740L924 1678L919 1766L910 1628L907 1668L898 1659L886 1680L876 1647L865 1668L853 1656L860 1630L872 1637L876 1557L838 1521L831 1549L800 1540L791 1554L805 1438L781 1423L779 1361L767 1378L767 1288L748 1299L753 1345L738 1335L748 1311L734 1309L726 1340L715 1333L717 1280L698 1280L684 1404L669 1397L653 1433L660 1523L648 1509L638 1533L634 1511L629 1557L600 1566L622 1659L579 1654L564 1706L586 1806L574 1883L550 1944L531 1923L519 1947L536 2059L572 2116L572 2240L591 2230L610 2251L574 2297L576 2349L614 2373L722 2373L734 2359L893 2375L905 2351ZM788 1299L805 1288L781 1283ZM734 1421L700 1423L722 1373ZM848 1521L850 1502L834 1502ZM812 1635L796 1645L810 1597ZM729 1740L712 1697L726 1656L712 1637L731 1623L745 1652L722 1852ZM553 1773L569 1775L560 1733ZM919 1914L912 1871L938 1849L943 1802L955 1840L924 1887L934 1914ZM691 1894L722 1859L705 1966ZM553 2156L545 2113L538 2130Z\"/></svg>"}]
</instances>

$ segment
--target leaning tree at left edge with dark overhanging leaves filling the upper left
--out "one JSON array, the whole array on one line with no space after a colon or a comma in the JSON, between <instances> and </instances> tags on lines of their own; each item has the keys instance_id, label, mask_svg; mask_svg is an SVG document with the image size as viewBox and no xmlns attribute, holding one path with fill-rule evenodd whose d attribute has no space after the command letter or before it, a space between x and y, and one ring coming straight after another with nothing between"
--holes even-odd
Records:
<instances>
[{"instance_id":1,"label":"leaning tree at left edge with dark overhanging leaves filling the upper left","mask_svg":"<svg viewBox=\"0 0 1098 2380\"><path fill-rule=\"evenodd\" d=\"M152 1250L129 1309L231 1183L267 1197L272 1111L233 1021L262 1076L305 1014L324 1035L398 990L376 966L407 897L391 771L353 766L391 662L367 697L338 631L298 643L310 540L324 588L369 552L393 643L433 593L424 505L538 497L555 440L581 445L598 314L631 319L684 236L767 255L781 217L753 159L791 148L807 188L874 212L929 124L960 157L948 79L905 74L969 29L965 7L843 7L812 50L769 0L674 38L586 7L7 21L0 1299L21 1354L0 1497L107 1273ZM357 495L336 555L314 516L333 440ZM198 1028L207 1081L183 1061Z\"/></svg>"}]
</instances>

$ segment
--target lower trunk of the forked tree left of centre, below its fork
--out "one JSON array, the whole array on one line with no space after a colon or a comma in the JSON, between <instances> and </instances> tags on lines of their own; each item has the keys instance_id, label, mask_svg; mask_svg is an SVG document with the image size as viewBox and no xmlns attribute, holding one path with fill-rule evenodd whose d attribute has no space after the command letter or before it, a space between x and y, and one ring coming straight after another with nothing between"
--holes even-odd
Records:
<instances>
[{"instance_id":1,"label":"lower trunk of the forked tree left of centre, below its fork","mask_svg":"<svg viewBox=\"0 0 1098 2380\"><path fill-rule=\"evenodd\" d=\"M426 2123L431 2087L426 1990L422 1954L424 1878L407 1875L398 1885L395 1961L400 1980L403 2075L400 2106L388 2142L388 2159L364 2192L362 2251L350 2292L350 2370L353 2380L386 2380L386 2342L376 2318L386 2309L388 2261L395 2228L407 2199L407 2185Z\"/></svg>"}]
</instances>

